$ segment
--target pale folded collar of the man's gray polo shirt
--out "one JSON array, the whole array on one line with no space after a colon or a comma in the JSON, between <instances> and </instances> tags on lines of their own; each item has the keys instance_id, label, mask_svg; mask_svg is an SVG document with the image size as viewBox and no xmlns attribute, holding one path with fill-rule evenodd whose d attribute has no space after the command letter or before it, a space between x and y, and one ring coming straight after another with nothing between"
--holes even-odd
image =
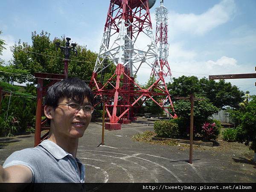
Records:
<instances>
[{"instance_id":1,"label":"pale folded collar of the man's gray polo shirt","mask_svg":"<svg viewBox=\"0 0 256 192\"><path fill-rule=\"evenodd\" d=\"M58 160L63 159L67 155L72 156L72 154L69 154L68 152L64 151L63 148L61 148L59 145L50 140L44 140L39 145L45 148L50 154L52 154L53 157L55 157L55 159Z\"/></svg>"}]
</instances>

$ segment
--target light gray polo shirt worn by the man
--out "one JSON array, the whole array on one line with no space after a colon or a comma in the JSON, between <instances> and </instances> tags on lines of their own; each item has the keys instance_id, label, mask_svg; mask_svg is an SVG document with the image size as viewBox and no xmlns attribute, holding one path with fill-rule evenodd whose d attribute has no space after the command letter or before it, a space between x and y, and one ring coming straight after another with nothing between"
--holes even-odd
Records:
<instances>
[{"instance_id":1,"label":"light gray polo shirt worn by the man","mask_svg":"<svg viewBox=\"0 0 256 192\"><path fill-rule=\"evenodd\" d=\"M3 168L13 165L28 167L33 175L32 183L84 183L81 161L50 140L44 140L35 148L12 153L3 163Z\"/></svg>"}]
</instances>

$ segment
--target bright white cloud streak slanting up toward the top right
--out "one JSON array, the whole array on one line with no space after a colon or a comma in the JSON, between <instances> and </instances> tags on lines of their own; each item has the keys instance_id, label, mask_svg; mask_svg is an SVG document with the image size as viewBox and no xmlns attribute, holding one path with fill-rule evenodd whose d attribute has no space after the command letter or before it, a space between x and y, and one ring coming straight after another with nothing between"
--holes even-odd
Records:
<instances>
[{"instance_id":1,"label":"bright white cloud streak slanting up toward the top right","mask_svg":"<svg viewBox=\"0 0 256 192\"><path fill-rule=\"evenodd\" d=\"M172 26L171 36L179 32L188 32L195 35L204 35L213 28L229 21L236 11L234 0L222 0L206 12L195 15L169 13L169 26Z\"/></svg>"}]
</instances>

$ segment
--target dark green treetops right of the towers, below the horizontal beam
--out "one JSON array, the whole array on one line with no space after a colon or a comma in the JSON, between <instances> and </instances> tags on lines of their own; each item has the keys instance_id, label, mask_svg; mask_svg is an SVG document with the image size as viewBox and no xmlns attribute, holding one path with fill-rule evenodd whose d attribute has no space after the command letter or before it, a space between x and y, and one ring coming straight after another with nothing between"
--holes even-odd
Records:
<instances>
[{"instance_id":1,"label":"dark green treetops right of the towers, below the horizontal beam","mask_svg":"<svg viewBox=\"0 0 256 192\"><path fill-rule=\"evenodd\" d=\"M167 87L172 96L203 96L217 108L238 108L244 96L244 92L230 82L198 79L196 76L173 78L173 82L167 84Z\"/></svg>"}]
</instances>

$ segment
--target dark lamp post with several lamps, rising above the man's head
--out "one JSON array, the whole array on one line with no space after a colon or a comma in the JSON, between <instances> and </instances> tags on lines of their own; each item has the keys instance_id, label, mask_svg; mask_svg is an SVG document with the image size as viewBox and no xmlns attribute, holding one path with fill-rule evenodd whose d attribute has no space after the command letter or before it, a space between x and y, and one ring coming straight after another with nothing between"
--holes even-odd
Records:
<instances>
[{"instance_id":1,"label":"dark lamp post with several lamps, rising above the man's head","mask_svg":"<svg viewBox=\"0 0 256 192\"><path fill-rule=\"evenodd\" d=\"M70 51L75 52L76 55L77 55L77 50L75 50L76 44L72 43L71 46L70 46L69 41L71 40L71 38L66 38L66 40L67 40L67 42L65 44L65 47L61 46L60 42L56 42L55 44L56 44L57 49L61 48L61 52L64 52L64 55L65 55L65 59L63 60L64 61L64 75L67 78L68 61L69 61L69 57L70 57Z\"/></svg>"}]
</instances>

